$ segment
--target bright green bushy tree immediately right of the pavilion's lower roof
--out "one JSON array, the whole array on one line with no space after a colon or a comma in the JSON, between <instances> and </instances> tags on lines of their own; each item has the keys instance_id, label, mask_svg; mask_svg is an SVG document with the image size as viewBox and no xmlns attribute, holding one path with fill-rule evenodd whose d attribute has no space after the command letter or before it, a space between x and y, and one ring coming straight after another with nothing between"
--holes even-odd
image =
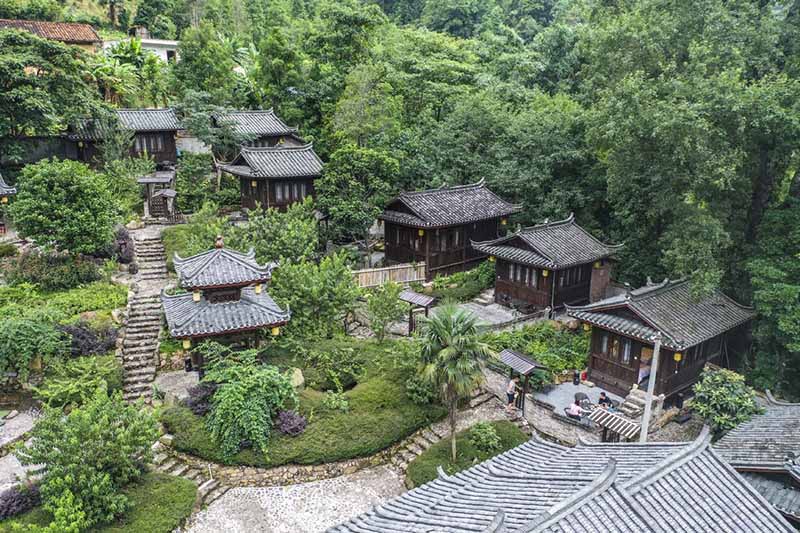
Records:
<instances>
[{"instance_id":1,"label":"bright green bushy tree immediately right of the pavilion's lower roof","mask_svg":"<svg viewBox=\"0 0 800 533\"><path fill-rule=\"evenodd\" d=\"M332 337L353 310L358 286L344 253L319 264L284 265L272 273L270 294L292 311L286 327L295 338Z\"/></svg>"}]
</instances>

